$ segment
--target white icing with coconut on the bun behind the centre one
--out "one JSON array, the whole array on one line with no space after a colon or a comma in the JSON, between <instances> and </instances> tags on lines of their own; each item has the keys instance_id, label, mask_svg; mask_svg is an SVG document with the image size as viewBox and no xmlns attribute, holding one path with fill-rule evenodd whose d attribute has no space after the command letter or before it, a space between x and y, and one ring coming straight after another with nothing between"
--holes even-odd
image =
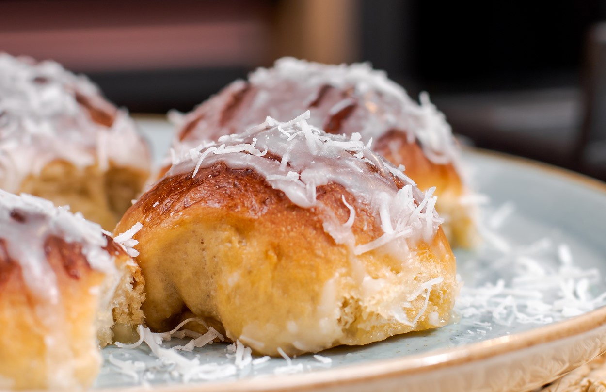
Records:
<instances>
[{"instance_id":1,"label":"white icing with coconut on the bun behind the centre one","mask_svg":"<svg viewBox=\"0 0 606 392\"><path fill-rule=\"evenodd\" d=\"M416 103L385 72L373 70L369 64L335 66L282 58L273 68L251 73L249 83L235 81L184 118L179 117L178 126L184 127L173 147L188 149L201 140L241 132L261 123L267 115L288 121L307 109L311 110L308 122L322 128L336 113L353 105L338 133L359 132L367 142L378 140L389 130L400 130L407 133L408 141L418 140L434 163L456 163L458 158L450 125L427 93L421 94L420 104ZM235 100L240 100L238 106L244 109L226 114ZM229 118L225 120L225 116ZM196 121L193 130L188 130L188 124Z\"/></svg>"}]
</instances>

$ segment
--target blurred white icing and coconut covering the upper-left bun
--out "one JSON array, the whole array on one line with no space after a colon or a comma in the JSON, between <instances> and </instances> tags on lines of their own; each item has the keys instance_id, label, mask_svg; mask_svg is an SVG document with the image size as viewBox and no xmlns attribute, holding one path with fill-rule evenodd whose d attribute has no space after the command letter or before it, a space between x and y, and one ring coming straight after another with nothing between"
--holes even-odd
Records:
<instances>
[{"instance_id":1,"label":"blurred white icing and coconut covering the upper-left bun","mask_svg":"<svg viewBox=\"0 0 606 392\"><path fill-rule=\"evenodd\" d=\"M96 123L76 101L112 115L110 127ZM53 61L0 53L0 187L16 192L28 174L65 160L77 167L98 163L147 171L150 155L125 110L102 98L87 78Z\"/></svg>"}]
</instances>

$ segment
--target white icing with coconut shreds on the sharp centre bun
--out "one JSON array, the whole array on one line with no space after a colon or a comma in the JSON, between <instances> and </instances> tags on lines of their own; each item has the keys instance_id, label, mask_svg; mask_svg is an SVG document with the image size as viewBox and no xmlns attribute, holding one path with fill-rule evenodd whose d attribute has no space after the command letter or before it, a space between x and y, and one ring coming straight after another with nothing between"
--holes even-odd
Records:
<instances>
[{"instance_id":1,"label":"white icing with coconut shreds on the sharp centre bun","mask_svg":"<svg viewBox=\"0 0 606 392\"><path fill-rule=\"evenodd\" d=\"M405 258L407 252L403 251L409 245L433 238L442 222L434 209L433 189L423 194L404 173L368 149L358 133L351 138L328 135L308 124L309 117L310 113L305 112L287 123L268 117L247 132L182 150L167 176L191 172L195 177L200 167L218 162L232 169L253 169L294 204L317 208L324 215L325 231L336 243L349 246L353 254L385 246ZM281 160L267 158L268 153ZM400 189L392 175L402 180L404 187ZM352 206L345 204L351 214L346 222L340 222L316 199L318 186L329 183L341 184L356 204L376 212L384 234L370 243L356 244L351 229L356 218Z\"/></svg>"}]
</instances>

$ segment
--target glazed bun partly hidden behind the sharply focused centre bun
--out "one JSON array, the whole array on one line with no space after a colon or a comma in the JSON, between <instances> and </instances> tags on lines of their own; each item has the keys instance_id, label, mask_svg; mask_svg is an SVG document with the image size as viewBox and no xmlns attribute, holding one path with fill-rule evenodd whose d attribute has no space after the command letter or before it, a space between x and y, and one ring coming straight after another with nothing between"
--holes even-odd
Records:
<instances>
[{"instance_id":1,"label":"glazed bun partly hidden behind the sharply focused centre bun","mask_svg":"<svg viewBox=\"0 0 606 392\"><path fill-rule=\"evenodd\" d=\"M451 243L476 240L473 206L461 178L459 147L444 115L430 103L411 100L401 86L368 64L331 66L293 58L258 69L235 81L183 118L173 149L188 150L202 140L240 132L265 116L288 121L310 110L309 123L328 133L360 133L362 141L391 163L403 164L426 191L436 187L438 211Z\"/></svg>"}]
</instances>

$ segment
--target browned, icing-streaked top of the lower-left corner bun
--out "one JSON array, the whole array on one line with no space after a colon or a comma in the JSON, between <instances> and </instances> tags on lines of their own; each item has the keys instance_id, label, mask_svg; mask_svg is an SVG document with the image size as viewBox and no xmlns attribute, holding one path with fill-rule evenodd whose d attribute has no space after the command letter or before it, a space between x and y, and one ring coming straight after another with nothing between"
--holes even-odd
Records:
<instances>
[{"instance_id":1,"label":"browned, icing-streaked top of the lower-left corner bun","mask_svg":"<svg viewBox=\"0 0 606 392\"><path fill-rule=\"evenodd\" d=\"M19 277L34 297L52 302L65 279L118 274L116 257L128 256L95 223L50 201L0 190L0 284Z\"/></svg>"}]
</instances>

